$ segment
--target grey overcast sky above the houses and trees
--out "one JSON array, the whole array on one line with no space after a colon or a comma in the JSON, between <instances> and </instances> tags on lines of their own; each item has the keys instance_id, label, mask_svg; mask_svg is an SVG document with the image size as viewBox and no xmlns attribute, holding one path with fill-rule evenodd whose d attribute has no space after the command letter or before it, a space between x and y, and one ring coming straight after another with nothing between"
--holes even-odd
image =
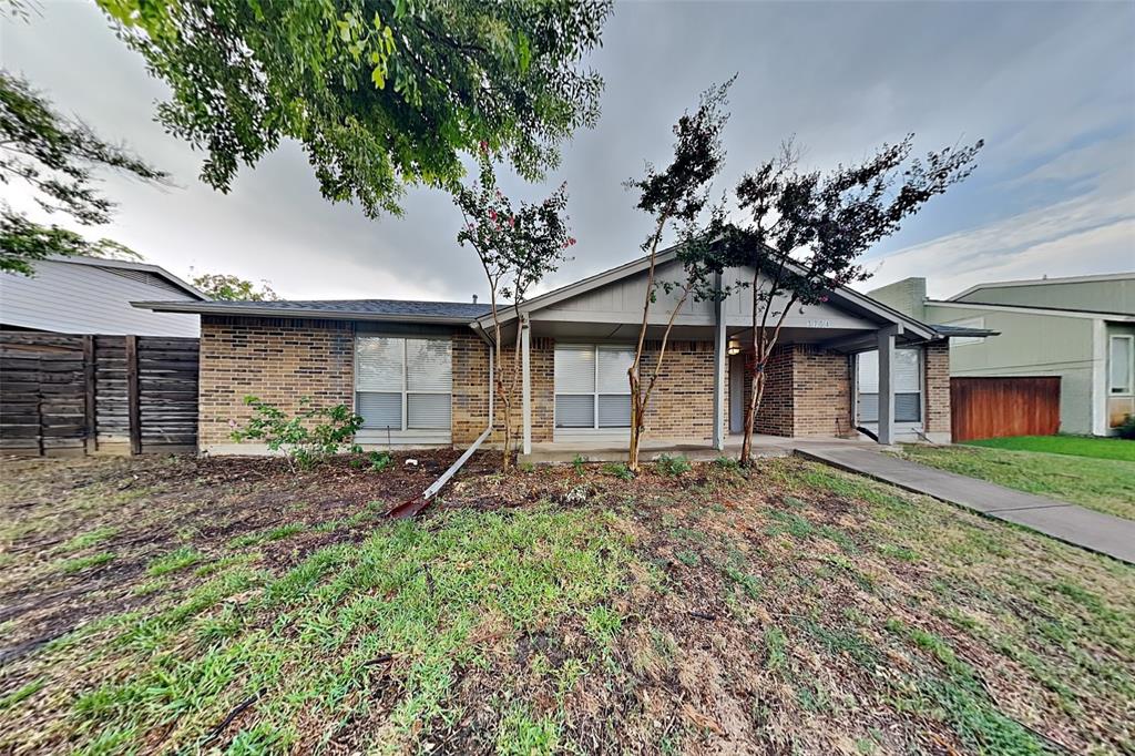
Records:
<instances>
[{"instance_id":1,"label":"grey overcast sky above the houses and trees","mask_svg":"<svg viewBox=\"0 0 1135 756\"><path fill-rule=\"evenodd\" d=\"M449 199L415 191L401 219L331 205L295 144L245 168L225 195L201 154L153 121L165 86L86 0L44 0L2 22L0 62L175 186L110 176L100 229L173 272L268 279L289 299L468 301L485 294L454 241ZM579 244L549 286L639 254L649 219L622 182L664 162L670 125L738 73L718 190L796 135L812 167L857 160L908 132L927 151L984 138L977 170L868 254L863 288L925 276L947 296L984 280L1135 269L1135 2L633 2L616 6L589 65L606 79L597 128L564 144L561 180ZM6 196L16 202L20 198Z\"/></svg>"}]
</instances>

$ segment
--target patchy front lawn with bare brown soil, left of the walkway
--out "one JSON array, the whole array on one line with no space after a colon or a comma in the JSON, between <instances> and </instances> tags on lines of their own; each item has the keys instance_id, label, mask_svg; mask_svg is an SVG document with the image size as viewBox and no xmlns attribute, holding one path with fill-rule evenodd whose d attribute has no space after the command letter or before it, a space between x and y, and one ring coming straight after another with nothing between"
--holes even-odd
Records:
<instances>
[{"instance_id":1,"label":"patchy front lawn with bare brown soil, left of the walkway","mask_svg":"<svg viewBox=\"0 0 1135 756\"><path fill-rule=\"evenodd\" d=\"M0 753L1135 748L1135 569L802 462L0 467Z\"/></svg>"}]
</instances>

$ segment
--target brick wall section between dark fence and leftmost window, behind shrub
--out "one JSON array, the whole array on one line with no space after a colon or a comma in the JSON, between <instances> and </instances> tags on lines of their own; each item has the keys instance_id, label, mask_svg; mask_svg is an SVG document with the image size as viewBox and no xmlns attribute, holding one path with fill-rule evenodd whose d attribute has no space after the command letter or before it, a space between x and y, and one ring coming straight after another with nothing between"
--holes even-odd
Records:
<instances>
[{"instance_id":1,"label":"brick wall section between dark fence and leftmost window, behind shrub","mask_svg":"<svg viewBox=\"0 0 1135 756\"><path fill-rule=\"evenodd\" d=\"M288 413L300 398L350 404L354 338L350 322L276 318L201 318L197 443L233 443L230 422L252 415L244 397L258 396Z\"/></svg>"}]
</instances>

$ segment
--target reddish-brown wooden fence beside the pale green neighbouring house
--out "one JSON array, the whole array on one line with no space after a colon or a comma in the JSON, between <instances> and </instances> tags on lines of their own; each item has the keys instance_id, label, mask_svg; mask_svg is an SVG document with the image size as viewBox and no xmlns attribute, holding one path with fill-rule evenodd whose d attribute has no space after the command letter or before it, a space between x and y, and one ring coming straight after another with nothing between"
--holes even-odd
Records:
<instances>
[{"instance_id":1,"label":"reddish-brown wooden fence beside the pale green neighbouring house","mask_svg":"<svg viewBox=\"0 0 1135 756\"><path fill-rule=\"evenodd\" d=\"M1060 430L1060 377L951 378L955 442L1051 436Z\"/></svg>"}]
</instances>

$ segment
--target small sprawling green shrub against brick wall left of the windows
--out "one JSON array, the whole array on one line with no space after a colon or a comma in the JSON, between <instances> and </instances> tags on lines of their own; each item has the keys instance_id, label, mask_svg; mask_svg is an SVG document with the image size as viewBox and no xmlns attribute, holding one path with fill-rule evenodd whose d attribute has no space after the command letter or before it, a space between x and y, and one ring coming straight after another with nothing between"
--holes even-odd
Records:
<instances>
[{"instance_id":1,"label":"small sprawling green shrub against brick wall left of the windows","mask_svg":"<svg viewBox=\"0 0 1135 756\"><path fill-rule=\"evenodd\" d=\"M303 409L289 418L275 404L255 396L245 396L244 403L252 408L252 418L246 426L233 431L233 440L262 440L269 451L284 452L293 470L297 467L310 470L323 457L345 447L361 451L351 440L362 427L362 418L346 404L316 408L309 406L311 400L303 397L300 400Z\"/></svg>"}]
</instances>

